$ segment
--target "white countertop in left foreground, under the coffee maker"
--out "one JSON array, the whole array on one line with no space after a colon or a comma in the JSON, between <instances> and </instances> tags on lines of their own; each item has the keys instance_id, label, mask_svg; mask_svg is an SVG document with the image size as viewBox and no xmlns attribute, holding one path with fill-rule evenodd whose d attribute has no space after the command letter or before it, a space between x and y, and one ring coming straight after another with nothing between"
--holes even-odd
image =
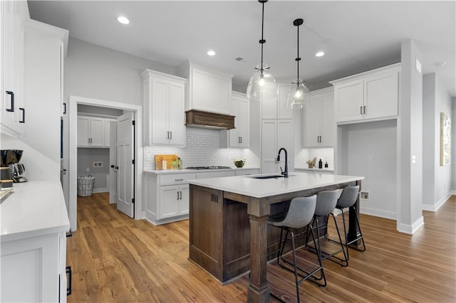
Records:
<instances>
[{"instance_id":1,"label":"white countertop in left foreground, under the coffee maker","mask_svg":"<svg viewBox=\"0 0 456 303\"><path fill-rule=\"evenodd\" d=\"M59 181L15 183L0 204L1 242L70 230Z\"/></svg>"}]
</instances>

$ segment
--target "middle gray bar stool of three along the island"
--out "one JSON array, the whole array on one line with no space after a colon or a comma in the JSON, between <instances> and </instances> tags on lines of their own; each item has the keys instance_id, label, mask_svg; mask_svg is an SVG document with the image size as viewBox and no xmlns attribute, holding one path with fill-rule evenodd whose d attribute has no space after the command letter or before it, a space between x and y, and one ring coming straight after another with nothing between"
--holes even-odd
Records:
<instances>
[{"instance_id":1,"label":"middle gray bar stool of three along the island","mask_svg":"<svg viewBox=\"0 0 456 303\"><path fill-rule=\"evenodd\" d=\"M317 193L314 218L311 223L311 228L310 229L308 228L307 235L306 235L306 249L310 250L311 252L319 252L321 254L322 260L328 259L332 262L336 262L338 265L346 267L346 266L348 266L348 257L346 255L345 250L343 249L341 233L339 232L339 229L338 229L336 217L334 217L334 214L333 214L333 210L334 210L334 208L336 208L336 203L338 201L338 196L339 196L338 189L336 189L334 191L320 191ZM336 248L328 247L328 249L331 249L331 252L327 252L321 248L321 239L320 239L320 229L321 228L325 228L326 233L327 233L329 216L332 216L332 218L333 218L334 224L336 225L337 235L338 235L338 241L336 241L336 240L330 240L330 239L326 238L326 234L325 234L325 238L327 240L330 240L331 242L337 244ZM326 222L319 223L318 222L319 217L326 217ZM311 245L309 245L309 235L314 236L314 230L316 230L316 238L317 238L318 246L312 247ZM341 252L343 252L343 259L341 257L337 256Z\"/></svg>"}]
</instances>

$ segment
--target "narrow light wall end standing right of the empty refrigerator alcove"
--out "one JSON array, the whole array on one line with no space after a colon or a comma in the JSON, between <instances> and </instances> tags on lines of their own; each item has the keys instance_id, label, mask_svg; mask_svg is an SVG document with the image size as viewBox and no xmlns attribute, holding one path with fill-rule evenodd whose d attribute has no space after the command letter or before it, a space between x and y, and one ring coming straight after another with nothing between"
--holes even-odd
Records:
<instances>
[{"instance_id":1,"label":"narrow light wall end standing right of the empty refrigerator alcove","mask_svg":"<svg viewBox=\"0 0 456 303\"><path fill-rule=\"evenodd\" d=\"M420 50L413 41L404 41L400 48L397 228L409 234L424 223L423 75L416 69L416 60L423 62Z\"/></svg>"}]
</instances>

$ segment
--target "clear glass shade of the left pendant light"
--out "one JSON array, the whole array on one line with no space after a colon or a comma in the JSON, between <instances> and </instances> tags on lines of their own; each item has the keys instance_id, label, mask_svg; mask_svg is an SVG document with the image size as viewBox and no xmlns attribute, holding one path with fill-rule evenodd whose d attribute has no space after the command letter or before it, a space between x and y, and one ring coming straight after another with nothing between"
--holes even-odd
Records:
<instances>
[{"instance_id":1,"label":"clear glass shade of the left pendant light","mask_svg":"<svg viewBox=\"0 0 456 303\"><path fill-rule=\"evenodd\" d=\"M266 66L267 68L267 66ZM274 77L267 69L257 68L247 86L247 97L250 100L274 98L277 95L277 85Z\"/></svg>"}]
</instances>

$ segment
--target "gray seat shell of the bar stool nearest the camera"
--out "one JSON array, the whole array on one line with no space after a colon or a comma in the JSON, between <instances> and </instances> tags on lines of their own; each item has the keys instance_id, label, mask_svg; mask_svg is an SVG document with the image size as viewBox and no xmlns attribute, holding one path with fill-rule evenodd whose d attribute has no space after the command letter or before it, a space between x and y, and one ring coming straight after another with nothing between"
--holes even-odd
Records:
<instances>
[{"instance_id":1,"label":"gray seat shell of the bar stool nearest the camera","mask_svg":"<svg viewBox=\"0 0 456 303\"><path fill-rule=\"evenodd\" d=\"M314 217L316 195L310 197L294 198L284 220L274 222L275 226L286 226L289 228L304 228Z\"/></svg>"}]
</instances>

